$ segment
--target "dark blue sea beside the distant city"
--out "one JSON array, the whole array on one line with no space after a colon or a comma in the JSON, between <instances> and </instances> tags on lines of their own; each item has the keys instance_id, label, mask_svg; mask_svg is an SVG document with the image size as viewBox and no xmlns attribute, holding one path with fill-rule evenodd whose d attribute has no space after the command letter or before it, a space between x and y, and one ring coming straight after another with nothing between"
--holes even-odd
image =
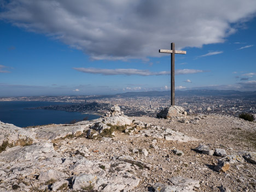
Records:
<instances>
[{"instance_id":1,"label":"dark blue sea beside the distant city","mask_svg":"<svg viewBox=\"0 0 256 192\"><path fill-rule=\"evenodd\" d=\"M82 114L79 112L66 112L64 110L25 109L31 107L71 104L62 102L40 101L3 101L0 102L0 121L14 124L18 127L67 124L72 120L97 119L100 116L94 114Z\"/></svg>"}]
</instances>

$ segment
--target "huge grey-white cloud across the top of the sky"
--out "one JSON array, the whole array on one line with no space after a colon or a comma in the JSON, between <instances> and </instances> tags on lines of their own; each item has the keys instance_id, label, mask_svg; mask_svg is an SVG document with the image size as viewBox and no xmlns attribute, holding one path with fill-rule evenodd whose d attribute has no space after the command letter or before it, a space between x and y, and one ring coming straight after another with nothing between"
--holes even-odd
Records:
<instances>
[{"instance_id":1,"label":"huge grey-white cloud across the top of the sky","mask_svg":"<svg viewBox=\"0 0 256 192\"><path fill-rule=\"evenodd\" d=\"M161 57L159 49L223 43L253 18L255 0L12 0L1 1L0 20L43 33L95 60ZM198 14L200 13L200 14ZM170 19L172 18L172 19Z\"/></svg>"}]
</instances>

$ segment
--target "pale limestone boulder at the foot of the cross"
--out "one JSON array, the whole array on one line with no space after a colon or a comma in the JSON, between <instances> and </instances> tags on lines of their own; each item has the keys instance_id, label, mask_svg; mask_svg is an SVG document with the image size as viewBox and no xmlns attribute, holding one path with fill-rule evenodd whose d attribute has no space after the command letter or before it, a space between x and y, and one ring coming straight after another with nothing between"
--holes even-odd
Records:
<instances>
[{"instance_id":1,"label":"pale limestone boulder at the foot of the cross","mask_svg":"<svg viewBox=\"0 0 256 192\"><path fill-rule=\"evenodd\" d=\"M162 109L158 114L158 118L164 118L164 119L171 119L174 117L182 117L185 116L187 113L185 113L184 109L180 106L171 106L167 107L165 109Z\"/></svg>"}]
</instances>

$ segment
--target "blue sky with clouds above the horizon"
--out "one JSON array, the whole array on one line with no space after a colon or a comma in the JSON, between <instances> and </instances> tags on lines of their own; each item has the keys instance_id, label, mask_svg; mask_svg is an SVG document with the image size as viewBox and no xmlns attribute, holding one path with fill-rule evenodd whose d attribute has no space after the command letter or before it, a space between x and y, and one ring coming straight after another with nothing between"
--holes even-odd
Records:
<instances>
[{"instance_id":1,"label":"blue sky with clouds above the horizon","mask_svg":"<svg viewBox=\"0 0 256 192\"><path fill-rule=\"evenodd\" d=\"M256 91L255 0L0 0L0 96Z\"/></svg>"}]
</instances>

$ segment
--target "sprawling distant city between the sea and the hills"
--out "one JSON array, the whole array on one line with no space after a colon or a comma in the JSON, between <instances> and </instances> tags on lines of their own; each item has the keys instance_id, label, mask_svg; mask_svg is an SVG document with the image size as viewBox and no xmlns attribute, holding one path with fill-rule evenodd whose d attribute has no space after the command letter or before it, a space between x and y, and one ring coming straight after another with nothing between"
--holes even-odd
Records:
<instances>
[{"instance_id":1,"label":"sprawling distant city between the sea and the hills","mask_svg":"<svg viewBox=\"0 0 256 192\"><path fill-rule=\"evenodd\" d=\"M170 106L170 92L127 92L125 94L99 96L0 97L0 101L63 102L63 105L31 109L66 110L68 112L95 114L104 114L111 106L118 104L128 116L147 115L149 117L156 117L156 114L161 109ZM73 104L65 104L67 102ZM234 115L236 117L241 113L255 114L256 91L177 91L176 105L182 106L188 114L216 113Z\"/></svg>"}]
</instances>

